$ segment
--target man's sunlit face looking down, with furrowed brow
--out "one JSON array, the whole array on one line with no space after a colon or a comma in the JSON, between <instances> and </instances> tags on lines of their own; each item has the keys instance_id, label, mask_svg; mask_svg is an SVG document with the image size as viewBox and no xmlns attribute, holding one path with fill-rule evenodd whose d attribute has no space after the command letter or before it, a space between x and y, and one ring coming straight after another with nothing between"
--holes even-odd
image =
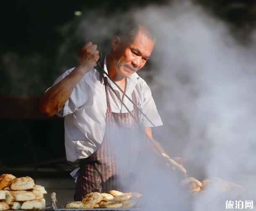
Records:
<instances>
[{"instance_id":1,"label":"man's sunlit face looking down, with furrowed brow","mask_svg":"<svg viewBox=\"0 0 256 211\"><path fill-rule=\"evenodd\" d=\"M141 69L149 59L154 41L138 31L132 43L121 44L115 49L115 71L119 76L128 77Z\"/></svg>"}]
</instances>

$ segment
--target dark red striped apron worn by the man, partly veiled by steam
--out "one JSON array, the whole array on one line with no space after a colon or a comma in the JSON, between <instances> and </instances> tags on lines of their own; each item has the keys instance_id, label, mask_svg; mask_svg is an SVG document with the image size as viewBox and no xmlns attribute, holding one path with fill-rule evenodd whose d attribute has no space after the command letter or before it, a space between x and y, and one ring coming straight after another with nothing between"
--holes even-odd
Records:
<instances>
[{"instance_id":1,"label":"dark red striped apron worn by the man, partly veiled by steam","mask_svg":"<svg viewBox=\"0 0 256 211\"><path fill-rule=\"evenodd\" d=\"M138 184L133 175L139 152L138 109L133 107L130 113L112 112L106 77L104 85L107 98L106 132L98 150L81 160L80 171L76 181L75 201L91 192L107 193L110 190L122 192L135 191ZM138 104L133 90L132 100Z\"/></svg>"}]
</instances>

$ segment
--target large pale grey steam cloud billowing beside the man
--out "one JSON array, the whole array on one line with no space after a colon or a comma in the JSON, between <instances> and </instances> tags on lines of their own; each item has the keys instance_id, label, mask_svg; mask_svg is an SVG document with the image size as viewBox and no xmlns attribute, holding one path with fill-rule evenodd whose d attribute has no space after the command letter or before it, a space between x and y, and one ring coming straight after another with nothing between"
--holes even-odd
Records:
<instances>
[{"instance_id":1,"label":"large pale grey steam cloud billowing beside the man","mask_svg":"<svg viewBox=\"0 0 256 211\"><path fill-rule=\"evenodd\" d=\"M255 201L255 42L241 45L228 25L190 1L152 5L109 18L99 14L88 14L76 36L85 35L84 41L93 38L104 46L115 26L128 16L151 25L157 35L151 66L139 74L152 79L149 86L165 124L162 130L170 137L162 140L166 151L175 146L188 158L185 167L190 176L201 181L217 176L246 190L225 195L212 188L191 203L187 196L180 196L178 179L173 177L170 182L166 170L145 155L144 160L157 168L139 175L147 193L146 210L216 211L225 210L226 200ZM151 194L154 191L159 195ZM168 197L162 197L165 194Z\"/></svg>"}]
</instances>

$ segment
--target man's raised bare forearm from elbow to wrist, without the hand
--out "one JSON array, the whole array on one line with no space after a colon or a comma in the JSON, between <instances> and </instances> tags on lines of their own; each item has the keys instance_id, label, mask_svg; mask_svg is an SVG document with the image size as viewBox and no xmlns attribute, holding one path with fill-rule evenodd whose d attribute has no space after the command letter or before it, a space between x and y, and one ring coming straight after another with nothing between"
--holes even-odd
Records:
<instances>
[{"instance_id":1,"label":"man's raised bare forearm from elbow to wrist, without the hand","mask_svg":"<svg viewBox=\"0 0 256 211\"><path fill-rule=\"evenodd\" d=\"M87 72L86 69L75 68L63 80L47 90L40 101L40 111L50 117L59 112L71 96L76 84Z\"/></svg>"}]
</instances>

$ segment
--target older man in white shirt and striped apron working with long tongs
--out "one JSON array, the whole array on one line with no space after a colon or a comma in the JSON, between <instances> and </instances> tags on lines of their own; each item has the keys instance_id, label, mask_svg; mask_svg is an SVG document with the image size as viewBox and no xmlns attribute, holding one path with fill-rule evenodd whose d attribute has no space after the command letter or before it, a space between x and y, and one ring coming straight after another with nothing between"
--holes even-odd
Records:
<instances>
[{"instance_id":1,"label":"older man in white shirt and striped apron working with long tongs","mask_svg":"<svg viewBox=\"0 0 256 211\"><path fill-rule=\"evenodd\" d=\"M144 67L153 48L154 37L149 28L132 23L113 38L112 50L104 58L102 67L154 126L159 126L162 121L149 86L136 73ZM41 112L49 116L65 116L67 160L80 165L76 201L93 191L121 190L118 176L130 175L136 163L140 148L136 138L139 128L155 142L161 153L165 153L152 137L153 125L110 79L103 76L101 80L102 76L94 69L98 59L97 45L86 43L79 53L78 65L55 81L42 97L40 106ZM120 157L125 168L117 166Z\"/></svg>"}]
</instances>

